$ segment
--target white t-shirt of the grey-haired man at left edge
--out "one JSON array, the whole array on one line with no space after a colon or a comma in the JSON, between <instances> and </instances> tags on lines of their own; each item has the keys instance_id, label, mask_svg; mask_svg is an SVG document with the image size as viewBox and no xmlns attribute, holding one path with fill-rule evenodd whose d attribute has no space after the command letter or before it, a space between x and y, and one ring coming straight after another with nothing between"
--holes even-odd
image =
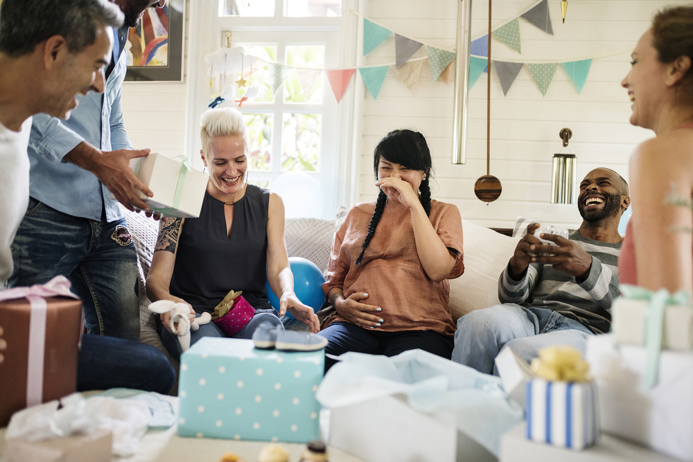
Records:
<instances>
[{"instance_id":1,"label":"white t-shirt of the grey-haired man at left edge","mask_svg":"<svg viewBox=\"0 0 693 462\"><path fill-rule=\"evenodd\" d=\"M0 290L12 275L12 251L15 238L29 203L29 143L31 118L13 132L0 123Z\"/></svg>"}]
</instances>

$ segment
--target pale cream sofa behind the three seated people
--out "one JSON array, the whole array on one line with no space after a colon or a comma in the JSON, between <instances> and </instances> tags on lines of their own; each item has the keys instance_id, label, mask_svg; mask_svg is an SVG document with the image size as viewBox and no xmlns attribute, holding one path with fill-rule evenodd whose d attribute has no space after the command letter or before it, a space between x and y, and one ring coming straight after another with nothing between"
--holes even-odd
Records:
<instances>
[{"instance_id":1,"label":"pale cream sofa behind the three seated people","mask_svg":"<svg viewBox=\"0 0 693 462\"><path fill-rule=\"evenodd\" d=\"M335 233L346 213L347 210L341 207L334 220L288 218L284 229L288 255L307 258L326 272ZM129 211L125 211L125 218L138 256L140 341L163 351L177 370L178 362L168 354L157 332L158 315L147 309L151 302L144 289L159 232L159 222L147 218L143 213ZM499 303L498 276L513 255L520 239L504 236L468 220L462 220L462 228L464 274L450 280L450 312L455 322L472 310ZM283 321L286 328L301 328L300 323ZM171 393L177 394L177 382Z\"/></svg>"}]
</instances>

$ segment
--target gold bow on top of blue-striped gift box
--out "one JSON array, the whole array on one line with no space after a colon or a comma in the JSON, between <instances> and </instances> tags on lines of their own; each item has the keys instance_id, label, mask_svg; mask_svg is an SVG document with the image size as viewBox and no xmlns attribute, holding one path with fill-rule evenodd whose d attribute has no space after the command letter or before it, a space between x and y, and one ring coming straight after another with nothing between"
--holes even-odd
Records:
<instances>
[{"instance_id":1,"label":"gold bow on top of blue-striped gift box","mask_svg":"<svg viewBox=\"0 0 693 462\"><path fill-rule=\"evenodd\" d=\"M590 365L572 346L548 346L539 350L539 357L532 359L532 372L546 380L561 382L588 382Z\"/></svg>"}]
</instances>

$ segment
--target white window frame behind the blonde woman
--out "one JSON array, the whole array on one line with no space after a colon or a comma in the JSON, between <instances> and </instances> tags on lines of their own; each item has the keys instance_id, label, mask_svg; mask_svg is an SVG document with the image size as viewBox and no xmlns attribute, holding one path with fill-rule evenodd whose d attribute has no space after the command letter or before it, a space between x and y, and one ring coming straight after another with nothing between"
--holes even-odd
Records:
<instances>
[{"instance_id":1,"label":"white window frame behind the blonde woman","mask_svg":"<svg viewBox=\"0 0 693 462\"><path fill-rule=\"evenodd\" d=\"M341 68L356 66L356 15L349 13L359 0L343 0L342 17L297 18L282 17L284 0L275 1L274 17L220 17L225 0L195 0L191 2L191 22L188 28L188 136L186 150L193 155L193 166L202 167L200 159L200 115L207 109L209 77L204 56L222 46L225 30L231 31L232 44L255 43L277 46L278 64L284 64L284 46L295 44L324 44L324 67ZM319 171L306 172L319 184L323 195L323 218L333 218L337 206L351 206L358 197L358 158L355 142L360 149L360 139L353 134L355 101L363 98L363 85L358 71L337 105L326 75L322 76L323 103L321 110L310 103L283 103L283 88L274 94L274 103L249 103L241 111L268 113L272 107L272 171L252 170L253 181L272 181L281 172L282 113L322 114L320 134ZM356 82L356 84L355 84ZM360 105L358 105L360 107ZM270 186L271 187L271 186Z\"/></svg>"}]
</instances>

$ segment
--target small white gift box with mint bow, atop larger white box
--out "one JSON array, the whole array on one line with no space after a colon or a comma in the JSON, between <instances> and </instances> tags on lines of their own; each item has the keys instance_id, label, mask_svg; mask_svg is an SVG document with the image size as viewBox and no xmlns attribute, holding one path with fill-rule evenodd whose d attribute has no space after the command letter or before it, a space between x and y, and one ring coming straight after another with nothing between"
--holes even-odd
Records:
<instances>
[{"instance_id":1,"label":"small white gift box with mint bow, atop larger white box","mask_svg":"<svg viewBox=\"0 0 693 462\"><path fill-rule=\"evenodd\" d=\"M647 300L620 297L611 307L611 332L617 344L644 346L645 310ZM688 305L667 305L664 311L662 348L693 350L693 308Z\"/></svg>"}]
</instances>

